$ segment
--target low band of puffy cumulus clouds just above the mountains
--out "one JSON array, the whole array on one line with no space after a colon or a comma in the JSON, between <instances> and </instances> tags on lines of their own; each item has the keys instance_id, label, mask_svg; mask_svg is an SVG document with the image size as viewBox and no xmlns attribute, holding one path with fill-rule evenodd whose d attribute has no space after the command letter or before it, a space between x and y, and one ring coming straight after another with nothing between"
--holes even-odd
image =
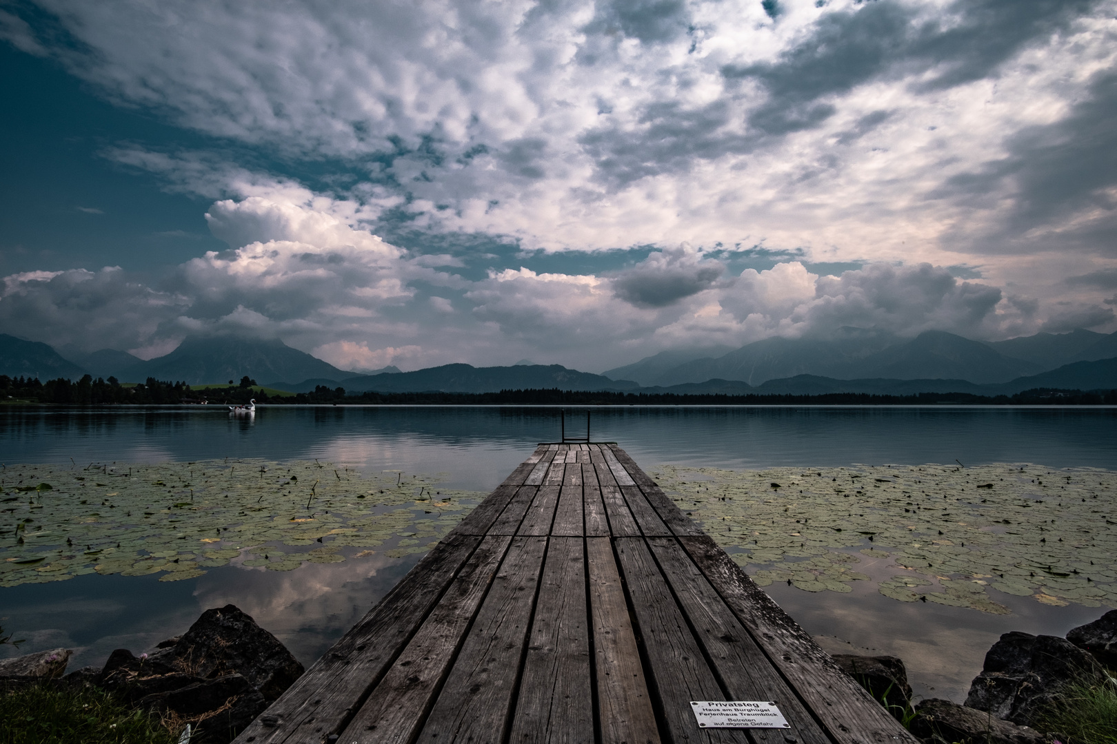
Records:
<instances>
[{"instance_id":1,"label":"low band of puffy cumulus clouds just above the mountains","mask_svg":"<svg viewBox=\"0 0 1117 744\"><path fill-rule=\"evenodd\" d=\"M672 346L844 327L1000 338L1113 320L1100 300L1006 296L927 263L869 262L828 276L785 260L734 276L688 245L601 274L522 267L470 279L445 265L455 261L381 240L352 205L288 187L220 200L207 218L214 234L244 244L187 261L155 284L115 267L11 274L0 329L144 357L187 336L232 334L281 338L346 368L531 356L601 369ZM1069 282L1109 289L1109 273Z\"/></svg>"}]
</instances>

